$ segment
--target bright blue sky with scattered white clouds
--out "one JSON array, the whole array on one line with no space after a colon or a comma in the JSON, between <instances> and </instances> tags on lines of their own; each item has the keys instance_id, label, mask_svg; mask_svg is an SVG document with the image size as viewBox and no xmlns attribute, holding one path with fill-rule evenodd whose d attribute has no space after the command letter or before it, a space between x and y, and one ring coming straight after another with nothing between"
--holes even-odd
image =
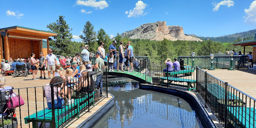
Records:
<instances>
[{"instance_id":1,"label":"bright blue sky with scattered white clouds","mask_svg":"<svg viewBox=\"0 0 256 128\"><path fill-rule=\"evenodd\" d=\"M2 0L0 28L46 26L65 16L74 41L89 20L109 36L166 21L184 34L216 37L256 29L256 0ZM4 5L4 6L3 6Z\"/></svg>"}]
</instances>

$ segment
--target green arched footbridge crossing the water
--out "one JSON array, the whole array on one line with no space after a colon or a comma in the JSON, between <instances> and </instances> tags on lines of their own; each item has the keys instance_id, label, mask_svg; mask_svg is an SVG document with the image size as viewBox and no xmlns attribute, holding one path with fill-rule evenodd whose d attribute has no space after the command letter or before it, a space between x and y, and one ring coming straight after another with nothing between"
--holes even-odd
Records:
<instances>
[{"instance_id":1,"label":"green arched footbridge crossing the water","mask_svg":"<svg viewBox=\"0 0 256 128\"><path fill-rule=\"evenodd\" d=\"M152 83L152 78L147 76L146 74L137 72L137 71L133 71L133 72L129 72L129 71L118 71L118 70L114 70L113 72L108 71L108 75L111 76L121 76L121 77L127 77L130 79L134 79L136 81L139 81L142 84L145 83Z\"/></svg>"}]
</instances>

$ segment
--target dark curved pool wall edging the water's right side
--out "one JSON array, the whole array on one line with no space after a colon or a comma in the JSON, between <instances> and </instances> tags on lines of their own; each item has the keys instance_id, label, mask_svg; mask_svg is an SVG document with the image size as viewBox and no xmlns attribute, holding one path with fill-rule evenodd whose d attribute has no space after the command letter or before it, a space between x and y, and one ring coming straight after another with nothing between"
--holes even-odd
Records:
<instances>
[{"instance_id":1,"label":"dark curved pool wall edging the water's right side","mask_svg":"<svg viewBox=\"0 0 256 128\"><path fill-rule=\"evenodd\" d=\"M178 87L167 88L167 87L163 87L159 85L151 85L151 84L140 84L139 88L143 90L151 90L159 93L166 93L166 94L178 96L182 99L185 99L186 102L188 102L190 105L193 105L192 108L195 109L195 112L196 114L198 114L198 117L200 118L201 123L204 123L204 125L206 125L207 128L222 128L222 125L217 121L217 119L211 113L209 108L205 108L204 105L202 105L204 104L204 101L200 99L201 97L194 92L182 90ZM192 93L194 93L195 95L193 95Z\"/></svg>"}]
</instances>

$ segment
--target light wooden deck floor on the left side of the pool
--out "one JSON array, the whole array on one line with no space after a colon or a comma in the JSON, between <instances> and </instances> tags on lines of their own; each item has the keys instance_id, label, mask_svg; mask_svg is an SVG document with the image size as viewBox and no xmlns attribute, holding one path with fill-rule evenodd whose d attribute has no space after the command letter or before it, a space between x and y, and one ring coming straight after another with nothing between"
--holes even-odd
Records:
<instances>
[{"instance_id":1,"label":"light wooden deck floor on the left side of the pool","mask_svg":"<svg viewBox=\"0 0 256 128\"><path fill-rule=\"evenodd\" d=\"M6 86L14 87L15 93L20 93L20 96L23 98L25 105L21 106L20 109L16 108L16 116L18 118L18 128L32 128L32 123L25 124L24 118L28 115L31 115L33 113L36 113L36 111L41 111L44 108L47 108L47 102L46 99L43 97L43 87L46 84L49 84L50 79L38 79L38 80L32 80L32 75L29 75L28 77L19 76L14 78L12 76L3 76L6 79ZM38 70L38 74L36 75L36 78L39 78L40 71ZM52 76L52 74L51 74ZM48 78L48 75L46 75ZM30 88L24 88L24 87L30 87ZM17 88L20 88L16 90ZM27 98L28 96L28 98ZM35 98L36 96L36 98ZM75 127L78 126L82 121L87 119L87 117L93 115L95 111L97 111L102 105L104 105L106 102L108 102L109 99L111 99L111 95L108 95L110 98L103 98L100 102L96 103L96 106L91 106L91 112L85 113L82 112L80 114L80 118L75 118L72 120L72 122L68 123L66 127ZM29 104L28 104L29 101ZM21 113L21 114L20 114Z\"/></svg>"}]
</instances>

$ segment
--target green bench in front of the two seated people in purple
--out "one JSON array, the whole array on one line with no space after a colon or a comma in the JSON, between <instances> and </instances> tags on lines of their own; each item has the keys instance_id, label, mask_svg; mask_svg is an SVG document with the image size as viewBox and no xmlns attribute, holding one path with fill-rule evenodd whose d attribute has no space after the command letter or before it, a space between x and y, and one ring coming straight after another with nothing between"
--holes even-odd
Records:
<instances>
[{"instance_id":1,"label":"green bench in front of the two seated people in purple","mask_svg":"<svg viewBox=\"0 0 256 128\"><path fill-rule=\"evenodd\" d=\"M172 72L171 72L172 73ZM192 86L192 84L194 84L196 82L196 80L194 79L183 79L183 78L175 78L175 77L160 77L160 81L161 84L169 84L169 85L175 85L175 86L179 86L179 87L187 87L187 90L195 90L195 87ZM167 80L167 83L164 82L164 80ZM172 83L172 81L175 82L186 82L187 85L182 85L182 84L175 84Z\"/></svg>"}]
</instances>

